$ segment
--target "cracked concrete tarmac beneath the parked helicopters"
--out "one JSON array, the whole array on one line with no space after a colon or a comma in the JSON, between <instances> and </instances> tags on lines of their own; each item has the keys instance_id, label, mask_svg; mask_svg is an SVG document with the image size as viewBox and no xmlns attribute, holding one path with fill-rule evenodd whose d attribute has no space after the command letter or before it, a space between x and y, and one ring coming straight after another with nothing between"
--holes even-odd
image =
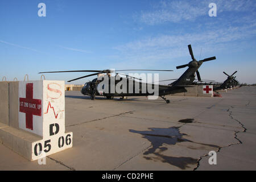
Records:
<instances>
[{"instance_id":1,"label":"cracked concrete tarmac beneath the parked helicopters","mask_svg":"<svg viewBox=\"0 0 256 182\"><path fill-rule=\"evenodd\" d=\"M255 170L256 87L222 97L90 100L65 92L73 148L29 162L0 144L0 170ZM209 151L217 164L210 165Z\"/></svg>"}]
</instances>

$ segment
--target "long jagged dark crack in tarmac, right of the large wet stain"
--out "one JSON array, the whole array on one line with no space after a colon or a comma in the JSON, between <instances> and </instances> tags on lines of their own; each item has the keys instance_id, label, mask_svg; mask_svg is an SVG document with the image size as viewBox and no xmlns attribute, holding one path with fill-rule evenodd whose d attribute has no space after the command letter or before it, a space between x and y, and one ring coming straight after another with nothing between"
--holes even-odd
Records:
<instances>
[{"instance_id":1,"label":"long jagged dark crack in tarmac, right of the large wet stain","mask_svg":"<svg viewBox=\"0 0 256 182\"><path fill-rule=\"evenodd\" d=\"M250 104L250 101L249 101L249 103L248 103L247 105L249 105L249 104ZM245 105L245 106L246 106L246 105ZM231 108L233 109L234 107L231 106ZM247 130L247 129L244 127L244 125L243 125L240 121L238 121L237 119L234 119L234 117L232 116L232 111L231 111L231 109L228 109L227 111L229 112L229 117L241 125L243 131L234 131L234 138L235 138L236 140L238 140L238 142L237 142L237 143L228 144L228 146L219 147L218 150L216 151L216 153L217 153L217 152L220 152L220 150L221 150L222 148L229 147L229 146L233 146L233 145L237 145L237 144L242 144L242 141L237 138L237 133L246 132L246 130ZM197 166L193 169L193 171L195 171L197 168L199 168L199 166L200 166L200 160L203 159L203 158L205 158L205 157L207 157L207 156L209 156L209 154L205 154L205 155L200 156L200 158L197 160Z\"/></svg>"}]
</instances>

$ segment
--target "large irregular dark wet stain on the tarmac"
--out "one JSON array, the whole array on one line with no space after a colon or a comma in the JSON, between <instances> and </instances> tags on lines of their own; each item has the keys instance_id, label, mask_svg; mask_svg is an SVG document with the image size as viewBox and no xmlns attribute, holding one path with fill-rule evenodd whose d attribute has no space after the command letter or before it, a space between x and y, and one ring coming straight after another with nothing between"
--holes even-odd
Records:
<instances>
[{"instance_id":1,"label":"large irregular dark wet stain on the tarmac","mask_svg":"<svg viewBox=\"0 0 256 182\"><path fill-rule=\"evenodd\" d=\"M141 134L143 135L143 138L146 138L148 141L151 142L151 147L148 148L148 150L145 151L143 155L154 154L155 156L144 156L145 159L160 160L163 163L169 163L172 166L179 167L180 169L188 168L190 164L196 164L197 159L190 158L190 157L183 157L183 156L174 157L174 156L163 155L162 152L168 150L167 147L163 147L164 144L175 145L176 143L180 143L180 142L191 142L191 143L196 143L203 146L218 148L218 146L213 144L198 143L198 142L193 142L191 140L183 138L183 136L186 136L187 134L180 133L179 128L180 127L148 128L148 131L137 131L137 130L129 130L129 131L132 133Z\"/></svg>"}]
</instances>

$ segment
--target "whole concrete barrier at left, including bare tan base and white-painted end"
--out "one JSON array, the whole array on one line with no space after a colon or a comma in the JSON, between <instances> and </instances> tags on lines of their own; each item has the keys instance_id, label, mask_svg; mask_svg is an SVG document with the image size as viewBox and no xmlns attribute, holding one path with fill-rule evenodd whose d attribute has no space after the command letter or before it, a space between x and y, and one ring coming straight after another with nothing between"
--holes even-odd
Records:
<instances>
[{"instance_id":1,"label":"whole concrete barrier at left, including bare tan base and white-painted end","mask_svg":"<svg viewBox=\"0 0 256 182\"><path fill-rule=\"evenodd\" d=\"M0 142L28 160L72 147L73 134L65 133L64 81L19 81L5 86L9 92L0 90L0 94L9 95L10 122L0 123Z\"/></svg>"}]
</instances>

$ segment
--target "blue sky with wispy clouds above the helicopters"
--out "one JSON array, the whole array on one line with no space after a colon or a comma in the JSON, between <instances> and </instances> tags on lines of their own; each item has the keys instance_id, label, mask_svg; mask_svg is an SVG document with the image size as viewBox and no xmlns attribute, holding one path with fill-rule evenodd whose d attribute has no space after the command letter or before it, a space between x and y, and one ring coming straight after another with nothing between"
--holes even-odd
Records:
<instances>
[{"instance_id":1,"label":"blue sky with wispy clouds above the helicopters","mask_svg":"<svg viewBox=\"0 0 256 182\"><path fill-rule=\"evenodd\" d=\"M46 4L46 17L38 4ZM217 5L210 17L209 3ZM173 69L216 56L199 71L202 79L255 83L256 1L0 1L0 78L40 80L38 72L76 69ZM71 80L86 73L49 73ZM93 77L74 81L84 84Z\"/></svg>"}]
</instances>

